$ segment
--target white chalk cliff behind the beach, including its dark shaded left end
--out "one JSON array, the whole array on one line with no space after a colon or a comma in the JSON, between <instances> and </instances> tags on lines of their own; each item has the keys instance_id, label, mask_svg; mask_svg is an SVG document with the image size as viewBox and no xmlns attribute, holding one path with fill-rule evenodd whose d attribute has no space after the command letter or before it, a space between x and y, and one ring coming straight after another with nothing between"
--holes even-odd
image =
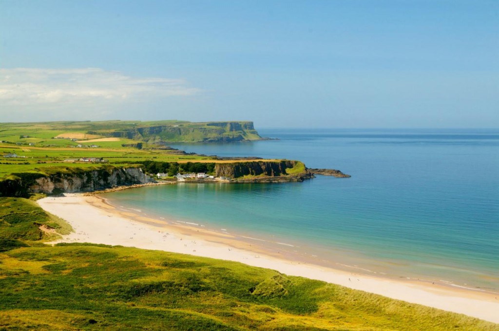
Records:
<instances>
[{"instance_id":1,"label":"white chalk cliff behind the beach, including its dark shaded left end","mask_svg":"<svg viewBox=\"0 0 499 331\"><path fill-rule=\"evenodd\" d=\"M0 182L0 196L26 197L31 193L90 192L114 186L153 181L138 167L66 168L51 173L13 173Z\"/></svg>"}]
</instances>

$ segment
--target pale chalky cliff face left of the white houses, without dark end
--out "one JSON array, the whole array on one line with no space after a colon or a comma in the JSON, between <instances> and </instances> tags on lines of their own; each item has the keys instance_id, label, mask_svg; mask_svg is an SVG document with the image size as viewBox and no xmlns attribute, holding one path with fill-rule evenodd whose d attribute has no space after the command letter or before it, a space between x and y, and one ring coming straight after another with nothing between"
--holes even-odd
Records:
<instances>
[{"instance_id":1,"label":"pale chalky cliff face left of the white houses, without dark end","mask_svg":"<svg viewBox=\"0 0 499 331\"><path fill-rule=\"evenodd\" d=\"M35 179L29 185L32 193L91 192L104 188L144 184L152 179L140 168L97 169L77 174L53 174Z\"/></svg>"}]
</instances>

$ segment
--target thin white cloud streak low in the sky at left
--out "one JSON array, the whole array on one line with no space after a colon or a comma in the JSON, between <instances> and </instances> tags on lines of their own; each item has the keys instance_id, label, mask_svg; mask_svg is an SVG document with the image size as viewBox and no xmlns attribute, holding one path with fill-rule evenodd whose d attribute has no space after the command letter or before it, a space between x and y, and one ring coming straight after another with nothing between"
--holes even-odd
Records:
<instances>
[{"instance_id":1,"label":"thin white cloud streak low in the sky at left","mask_svg":"<svg viewBox=\"0 0 499 331\"><path fill-rule=\"evenodd\" d=\"M26 117L45 111L54 117L71 110L102 115L125 103L200 92L188 87L183 79L137 78L99 68L0 69L0 116L12 118L12 112L20 112Z\"/></svg>"}]
</instances>

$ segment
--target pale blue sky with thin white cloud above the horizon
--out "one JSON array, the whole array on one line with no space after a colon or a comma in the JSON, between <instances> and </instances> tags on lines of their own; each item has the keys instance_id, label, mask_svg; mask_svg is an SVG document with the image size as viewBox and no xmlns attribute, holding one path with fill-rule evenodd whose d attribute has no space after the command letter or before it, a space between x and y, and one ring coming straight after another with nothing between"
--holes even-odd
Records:
<instances>
[{"instance_id":1,"label":"pale blue sky with thin white cloud above the horizon","mask_svg":"<svg viewBox=\"0 0 499 331\"><path fill-rule=\"evenodd\" d=\"M499 128L497 0L0 0L0 122Z\"/></svg>"}]
</instances>

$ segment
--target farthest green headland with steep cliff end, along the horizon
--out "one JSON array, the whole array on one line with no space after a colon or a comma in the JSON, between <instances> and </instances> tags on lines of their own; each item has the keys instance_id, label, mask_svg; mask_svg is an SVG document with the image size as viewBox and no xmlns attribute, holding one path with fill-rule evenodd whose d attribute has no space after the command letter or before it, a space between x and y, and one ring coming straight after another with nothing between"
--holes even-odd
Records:
<instances>
[{"instance_id":1,"label":"farthest green headland with steep cliff end, along the horizon","mask_svg":"<svg viewBox=\"0 0 499 331\"><path fill-rule=\"evenodd\" d=\"M102 121L0 123L0 140L25 145L76 146L71 138L119 138L123 144L146 142L239 142L260 140L253 122ZM56 139L54 139L56 138Z\"/></svg>"}]
</instances>

